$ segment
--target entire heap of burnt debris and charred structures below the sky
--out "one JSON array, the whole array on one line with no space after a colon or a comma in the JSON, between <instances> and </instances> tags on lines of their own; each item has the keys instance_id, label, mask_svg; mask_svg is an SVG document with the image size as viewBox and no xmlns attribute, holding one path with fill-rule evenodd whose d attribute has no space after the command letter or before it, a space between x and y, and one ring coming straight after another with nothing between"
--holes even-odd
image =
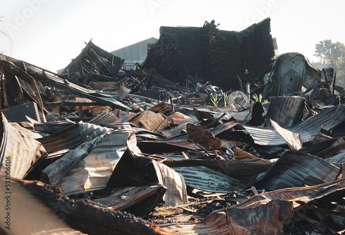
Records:
<instances>
[{"instance_id":1,"label":"entire heap of burnt debris and charred structures below the sky","mask_svg":"<svg viewBox=\"0 0 345 235\"><path fill-rule=\"evenodd\" d=\"M0 231L344 233L342 88L273 63L269 24L162 27L137 70L91 41L62 74L0 54Z\"/></svg>"}]
</instances>

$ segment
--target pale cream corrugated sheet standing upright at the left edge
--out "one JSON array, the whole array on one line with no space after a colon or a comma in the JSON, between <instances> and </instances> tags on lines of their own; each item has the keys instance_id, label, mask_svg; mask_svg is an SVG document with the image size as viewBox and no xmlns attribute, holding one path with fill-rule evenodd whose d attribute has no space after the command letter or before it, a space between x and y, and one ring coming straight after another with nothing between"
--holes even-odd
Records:
<instances>
[{"instance_id":1,"label":"pale cream corrugated sheet standing upright at the left edge","mask_svg":"<svg viewBox=\"0 0 345 235\"><path fill-rule=\"evenodd\" d=\"M45 157L47 152L28 131L10 125L2 112L0 118L0 172L6 176L24 178L30 167Z\"/></svg>"}]
</instances>

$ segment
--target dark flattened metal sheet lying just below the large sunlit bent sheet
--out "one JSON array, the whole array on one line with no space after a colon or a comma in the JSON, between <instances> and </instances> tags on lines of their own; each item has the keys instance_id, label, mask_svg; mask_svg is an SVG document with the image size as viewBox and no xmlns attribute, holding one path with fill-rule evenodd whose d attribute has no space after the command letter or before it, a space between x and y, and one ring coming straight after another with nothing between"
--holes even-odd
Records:
<instances>
[{"instance_id":1,"label":"dark flattened metal sheet lying just below the large sunlit bent sheet","mask_svg":"<svg viewBox=\"0 0 345 235\"><path fill-rule=\"evenodd\" d=\"M101 203L112 210L125 210L136 216L145 217L159 203L165 192L166 188L159 184L124 187L112 190L109 196L94 199L93 201ZM148 200L150 203L147 202ZM136 210L136 207L139 208Z\"/></svg>"}]
</instances>

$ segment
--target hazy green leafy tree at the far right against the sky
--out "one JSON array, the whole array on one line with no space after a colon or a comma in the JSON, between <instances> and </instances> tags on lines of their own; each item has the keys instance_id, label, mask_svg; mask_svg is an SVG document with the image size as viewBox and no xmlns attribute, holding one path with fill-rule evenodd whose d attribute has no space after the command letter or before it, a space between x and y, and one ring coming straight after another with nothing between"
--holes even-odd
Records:
<instances>
[{"instance_id":1,"label":"hazy green leafy tree at the far right against the sky","mask_svg":"<svg viewBox=\"0 0 345 235\"><path fill-rule=\"evenodd\" d=\"M315 45L315 57L319 57L324 67L333 67L337 72L336 85L345 87L345 45L331 39L320 41Z\"/></svg>"}]
</instances>

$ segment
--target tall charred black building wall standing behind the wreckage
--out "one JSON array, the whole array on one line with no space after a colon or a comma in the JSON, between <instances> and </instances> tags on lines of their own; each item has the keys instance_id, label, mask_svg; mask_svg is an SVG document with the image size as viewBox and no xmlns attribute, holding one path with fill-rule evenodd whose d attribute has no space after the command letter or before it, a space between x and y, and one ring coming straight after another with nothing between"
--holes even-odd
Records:
<instances>
[{"instance_id":1,"label":"tall charred black building wall standing behind the wreckage","mask_svg":"<svg viewBox=\"0 0 345 235\"><path fill-rule=\"evenodd\" d=\"M272 67L269 18L240 32L219 30L215 21L203 27L161 26L159 32L142 68L155 69L180 85L210 81L224 90L241 90Z\"/></svg>"}]
</instances>

